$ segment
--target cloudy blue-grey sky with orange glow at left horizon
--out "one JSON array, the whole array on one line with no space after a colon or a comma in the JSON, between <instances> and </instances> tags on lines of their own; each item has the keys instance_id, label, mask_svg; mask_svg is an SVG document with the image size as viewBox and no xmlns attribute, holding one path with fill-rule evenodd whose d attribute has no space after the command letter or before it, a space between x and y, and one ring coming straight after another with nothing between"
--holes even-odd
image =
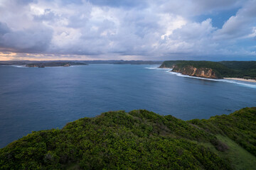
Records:
<instances>
[{"instance_id":1,"label":"cloudy blue-grey sky with orange glow at left horizon","mask_svg":"<svg viewBox=\"0 0 256 170\"><path fill-rule=\"evenodd\" d=\"M256 0L0 0L0 60L256 60Z\"/></svg>"}]
</instances>

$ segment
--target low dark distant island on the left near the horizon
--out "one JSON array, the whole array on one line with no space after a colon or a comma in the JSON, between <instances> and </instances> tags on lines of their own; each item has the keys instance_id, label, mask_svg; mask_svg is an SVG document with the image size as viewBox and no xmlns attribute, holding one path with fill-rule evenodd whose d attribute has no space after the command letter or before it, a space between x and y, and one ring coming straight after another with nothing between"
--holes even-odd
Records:
<instances>
[{"instance_id":1,"label":"low dark distant island on the left near the horizon","mask_svg":"<svg viewBox=\"0 0 256 170\"><path fill-rule=\"evenodd\" d=\"M29 63L26 64L26 67L70 67L72 65L87 65L82 62L36 62L36 63Z\"/></svg>"}]
</instances>

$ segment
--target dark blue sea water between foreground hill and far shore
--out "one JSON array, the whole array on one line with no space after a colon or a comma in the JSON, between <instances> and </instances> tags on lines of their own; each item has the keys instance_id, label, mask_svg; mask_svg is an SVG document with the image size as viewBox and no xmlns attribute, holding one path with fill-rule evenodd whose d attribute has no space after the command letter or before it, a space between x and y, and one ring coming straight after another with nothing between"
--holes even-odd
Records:
<instances>
[{"instance_id":1,"label":"dark blue sea water between foreground hill and far shore","mask_svg":"<svg viewBox=\"0 0 256 170\"><path fill-rule=\"evenodd\" d=\"M0 67L0 147L107 111L142 108L189 120L256 106L256 84L180 77L156 67Z\"/></svg>"}]
</instances>

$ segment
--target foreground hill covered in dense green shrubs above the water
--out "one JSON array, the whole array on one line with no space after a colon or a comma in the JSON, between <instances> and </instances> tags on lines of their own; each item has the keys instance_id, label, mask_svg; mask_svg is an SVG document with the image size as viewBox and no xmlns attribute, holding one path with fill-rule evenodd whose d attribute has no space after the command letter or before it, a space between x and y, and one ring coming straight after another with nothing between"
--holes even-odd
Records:
<instances>
[{"instance_id":1,"label":"foreground hill covered in dense green shrubs above the water","mask_svg":"<svg viewBox=\"0 0 256 170\"><path fill-rule=\"evenodd\" d=\"M81 118L0 149L0 169L255 169L256 108L183 121L139 110Z\"/></svg>"}]
</instances>

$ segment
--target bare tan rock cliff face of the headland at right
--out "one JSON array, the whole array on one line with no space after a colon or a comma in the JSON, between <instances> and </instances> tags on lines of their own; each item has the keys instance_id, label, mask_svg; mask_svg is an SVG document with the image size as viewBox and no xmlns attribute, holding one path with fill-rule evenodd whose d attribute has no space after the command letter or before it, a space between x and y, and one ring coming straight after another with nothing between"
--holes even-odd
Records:
<instances>
[{"instance_id":1,"label":"bare tan rock cliff face of the headland at right","mask_svg":"<svg viewBox=\"0 0 256 170\"><path fill-rule=\"evenodd\" d=\"M222 77L218 76L213 69L210 68L196 68L193 66L187 66L187 67L178 67L174 66L174 69L172 72L179 72L181 74L186 74L188 76L193 77L204 77L204 78L210 78L210 79L220 79Z\"/></svg>"}]
</instances>

